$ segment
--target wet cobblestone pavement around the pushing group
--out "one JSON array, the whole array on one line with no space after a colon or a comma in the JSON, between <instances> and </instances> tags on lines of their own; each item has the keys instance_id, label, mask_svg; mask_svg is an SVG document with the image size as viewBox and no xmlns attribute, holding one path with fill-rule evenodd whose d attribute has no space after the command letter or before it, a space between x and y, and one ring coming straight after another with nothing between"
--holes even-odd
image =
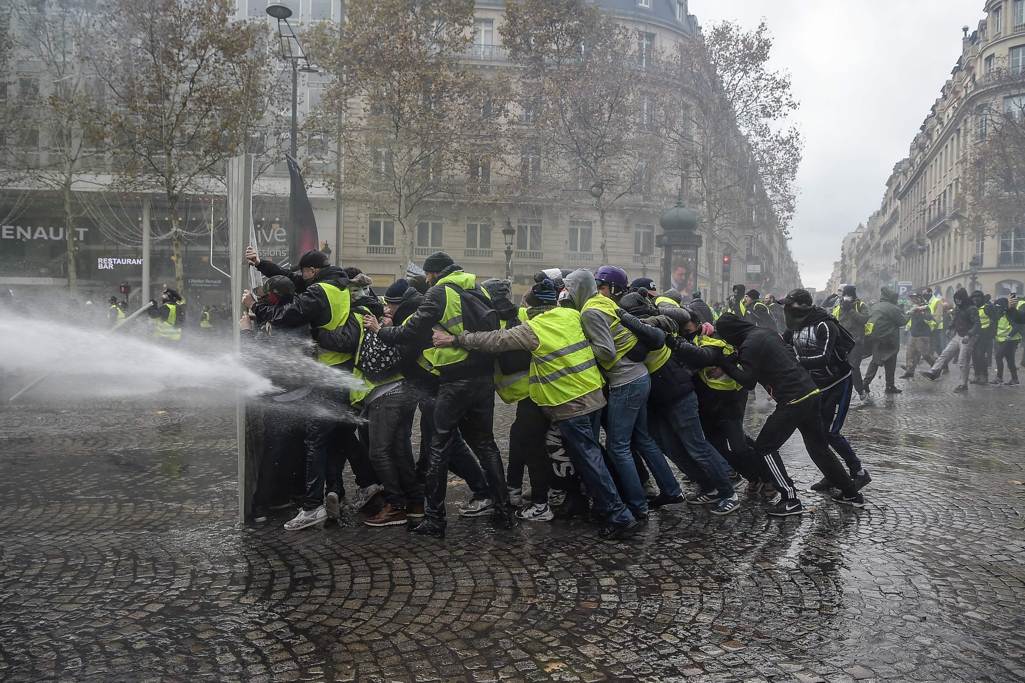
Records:
<instances>
[{"instance_id":1,"label":"wet cobblestone pavement around the pushing group","mask_svg":"<svg viewBox=\"0 0 1025 683\"><path fill-rule=\"evenodd\" d=\"M673 506L617 543L580 521L450 518L444 541L352 515L288 532L290 511L243 527L233 409L16 407L0 679L1021 680L1025 394L952 386L851 415L864 510ZM818 479L797 442L784 458Z\"/></svg>"}]
</instances>

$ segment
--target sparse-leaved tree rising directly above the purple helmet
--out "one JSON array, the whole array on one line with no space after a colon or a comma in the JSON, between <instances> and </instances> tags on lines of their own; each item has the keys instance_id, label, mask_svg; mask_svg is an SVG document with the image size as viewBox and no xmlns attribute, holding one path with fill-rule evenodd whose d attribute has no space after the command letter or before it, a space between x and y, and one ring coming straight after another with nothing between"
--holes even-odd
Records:
<instances>
[{"instance_id":1,"label":"sparse-leaved tree rising directly above the purple helmet","mask_svg":"<svg viewBox=\"0 0 1025 683\"><path fill-rule=\"evenodd\" d=\"M608 217L624 198L655 208L666 138L656 125L661 52L586 0L510 0L502 41L524 67L521 175L551 199L593 209L603 262ZM529 166L529 165L533 165ZM543 165L543 167L542 167Z\"/></svg>"}]
</instances>

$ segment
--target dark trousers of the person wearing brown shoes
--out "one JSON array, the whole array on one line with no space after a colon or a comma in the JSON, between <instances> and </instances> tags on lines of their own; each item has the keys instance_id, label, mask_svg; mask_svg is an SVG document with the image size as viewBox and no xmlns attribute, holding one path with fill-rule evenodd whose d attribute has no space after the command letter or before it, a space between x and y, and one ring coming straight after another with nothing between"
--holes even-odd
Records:
<instances>
[{"instance_id":1,"label":"dark trousers of the person wearing brown shoes","mask_svg":"<svg viewBox=\"0 0 1025 683\"><path fill-rule=\"evenodd\" d=\"M416 403L404 393L380 396L367 407L370 464L384 486L388 505L405 509L406 501L419 502L416 465L413 462L413 416Z\"/></svg>"}]
</instances>

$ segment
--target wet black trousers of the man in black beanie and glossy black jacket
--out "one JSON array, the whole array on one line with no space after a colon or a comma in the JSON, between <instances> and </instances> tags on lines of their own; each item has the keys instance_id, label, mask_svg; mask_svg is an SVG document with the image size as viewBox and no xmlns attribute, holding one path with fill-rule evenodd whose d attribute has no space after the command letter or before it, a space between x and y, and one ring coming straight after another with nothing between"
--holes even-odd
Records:
<instances>
[{"instance_id":1,"label":"wet black trousers of the man in black beanie and glossy black jacket","mask_svg":"<svg viewBox=\"0 0 1025 683\"><path fill-rule=\"evenodd\" d=\"M424 488L423 511L428 519L445 525L448 464L459 434L484 468L496 514L508 514L509 493L505 469L492 431L495 418L494 381L491 376L442 382L435 401L435 433Z\"/></svg>"}]
</instances>

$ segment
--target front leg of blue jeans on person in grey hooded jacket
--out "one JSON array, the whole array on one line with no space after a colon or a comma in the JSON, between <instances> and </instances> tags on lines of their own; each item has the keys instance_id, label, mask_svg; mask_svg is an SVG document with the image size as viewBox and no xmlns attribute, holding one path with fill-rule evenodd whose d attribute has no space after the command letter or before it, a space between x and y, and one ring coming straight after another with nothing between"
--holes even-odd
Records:
<instances>
[{"instance_id":1,"label":"front leg of blue jeans on person in grey hooded jacket","mask_svg":"<svg viewBox=\"0 0 1025 683\"><path fill-rule=\"evenodd\" d=\"M623 502L634 515L648 513L648 501L645 500L641 477L638 476L638 468L630 453L630 439L633 437L633 430L642 413L645 418L641 424L644 425L645 433L648 432L649 391L651 391L651 378L648 375L629 384L613 387L609 389L609 404L605 409L605 449L609 452L609 460L619 475ZM668 470L664 458L662 464ZM661 482L659 485L661 486ZM679 483L676 486L679 490Z\"/></svg>"}]
</instances>

